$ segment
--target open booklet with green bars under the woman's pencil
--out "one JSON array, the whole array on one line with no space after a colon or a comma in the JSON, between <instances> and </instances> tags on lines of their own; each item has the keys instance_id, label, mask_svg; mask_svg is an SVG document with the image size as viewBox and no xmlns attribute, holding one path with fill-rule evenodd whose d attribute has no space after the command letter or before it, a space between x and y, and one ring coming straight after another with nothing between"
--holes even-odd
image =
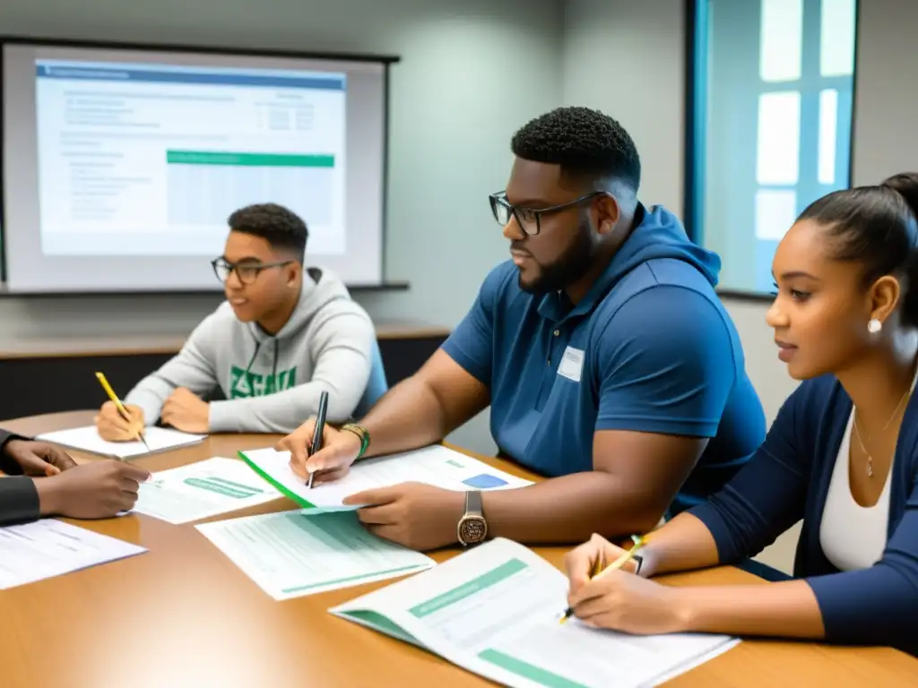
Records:
<instances>
[{"instance_id":1,"label":"open booklet with green bars under the woman's pencil","mask_svg":"<svg viewBox=\"0 0 918 688\"><path fill-rule=\"evenodd\" d=\"M566 595L561 571L497 538L330 612L513 688L653 686L738 642L562 625Z\"/></svg>"}]
</instances>

